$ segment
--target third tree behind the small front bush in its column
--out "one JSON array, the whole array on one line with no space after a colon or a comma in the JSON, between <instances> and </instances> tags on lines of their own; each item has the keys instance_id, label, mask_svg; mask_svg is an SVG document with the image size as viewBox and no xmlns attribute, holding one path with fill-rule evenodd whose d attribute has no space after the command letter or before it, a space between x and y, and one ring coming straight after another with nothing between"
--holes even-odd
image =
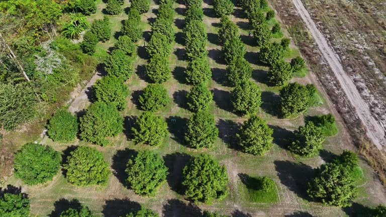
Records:
<instances>
[{"instance_id":1,"label":"third tree behind the small front bush in its column","mask_svg":"<svg viewBox=\"0 0 386 217\"><path fill-rule=\"evenodd\" d=\"M227 79L231 86L237 86L252 75L252 67L243 57L233 59L227 67Z\"/></svg>"}]
</instances>

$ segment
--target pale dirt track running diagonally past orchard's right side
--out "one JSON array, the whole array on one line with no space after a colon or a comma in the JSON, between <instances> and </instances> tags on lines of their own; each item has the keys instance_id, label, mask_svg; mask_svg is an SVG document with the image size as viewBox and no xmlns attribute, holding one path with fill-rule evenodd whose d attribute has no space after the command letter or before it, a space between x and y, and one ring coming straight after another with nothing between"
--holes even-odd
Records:
<instances>
[{"instance_id":1,"label":"pale dirt track running diagonally past orchard's right side","mask_svg":"<svg viewBox=\"0 0 386 217\"><path fill-rule=\"evenodd\" d=\"M338 55L328 45L326 38L316 27L307 9L303 6L302 1L293 0L293 3L318 44L323 57L327 60L338 79L343 91L346 93L350 103L355 107L359 119L366 128L367 136L373 141L378 149L386 147L385 126L372 117L368 104L360 96L354 82L344 71Z\"/></svg>"}]
</instances>

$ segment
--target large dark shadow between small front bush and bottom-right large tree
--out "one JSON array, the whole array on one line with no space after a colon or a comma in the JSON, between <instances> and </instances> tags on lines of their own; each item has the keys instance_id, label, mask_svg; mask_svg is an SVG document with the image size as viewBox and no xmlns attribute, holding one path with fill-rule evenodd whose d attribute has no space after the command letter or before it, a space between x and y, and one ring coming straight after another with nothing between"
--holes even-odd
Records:
<instances>
[{"instance_id":1,"label":"large dark shadow between small front bush and bottom-right large tree","mask_svg":"<svg viewBox=\"0 0 386 217\"><path fill-rule=\"evenodd\" d=\"M304 163L292 161L274 161L280 183L299 197L309 199L307 183L314 176L314 169Z\"/></svg>"}]
</instances>

